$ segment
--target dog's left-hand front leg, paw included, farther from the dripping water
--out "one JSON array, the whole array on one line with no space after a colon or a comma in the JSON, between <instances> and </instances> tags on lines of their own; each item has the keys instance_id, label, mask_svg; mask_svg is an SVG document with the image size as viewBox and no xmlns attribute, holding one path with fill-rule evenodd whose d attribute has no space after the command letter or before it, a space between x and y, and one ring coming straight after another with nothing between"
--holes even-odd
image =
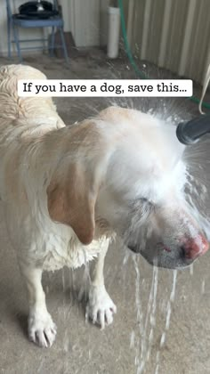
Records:
<instances>
[{"instance_id":1,"label":"dog's left-hand front leg, paw included, farther from the dripping water","mask_svg":"<svg viewBox=\"0 0 210 374\"><path fill-rule=\"evenodd\" d=\"M42 269L20 264L20 270L28 289L28 337L38 346L52 346L56 336L56 326L45 304Z\"/></svg>"}]
</instances>

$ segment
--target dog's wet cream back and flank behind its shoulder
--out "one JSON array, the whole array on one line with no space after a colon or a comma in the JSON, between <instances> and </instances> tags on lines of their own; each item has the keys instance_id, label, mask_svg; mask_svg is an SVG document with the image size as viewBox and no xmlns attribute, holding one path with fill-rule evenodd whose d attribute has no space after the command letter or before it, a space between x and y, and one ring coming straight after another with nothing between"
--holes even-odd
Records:
<instances>
[{"instance_id":1,"label":"dog's wet cream back and flank behind its shoulder","mask_svg":"<svg viewBox=\"0 0 210 374\"><path fill-rule=\"evenodd\" d=\"M46 77L39 70L23 65L0 69L0 198L12 202L22 194L21 175L25 173L26 162L23 157L30 144L65 126L51 98L18 96L19 79Z\"/></svg>"}]
</instances>

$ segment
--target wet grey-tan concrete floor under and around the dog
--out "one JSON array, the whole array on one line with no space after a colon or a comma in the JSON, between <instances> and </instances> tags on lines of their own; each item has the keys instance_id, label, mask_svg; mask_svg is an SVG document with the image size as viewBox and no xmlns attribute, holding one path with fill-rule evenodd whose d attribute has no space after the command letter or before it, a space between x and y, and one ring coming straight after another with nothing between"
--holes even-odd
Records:
<instances>
[{"instance_id":1,"label":"wet grey-tan concrete floor under and around the dog","mask_svg":"<svg viewBox=\"0 0 210 374\"><path fill-rule=\"evenodd\" d=\"M9 62L11 61L0 59L0 65ZM49 78L108 78L113 75L133 77L124 61L119 60L111 65L103 59L101 53L89 53L86 58L77 58L71 61L70 67L62 61L52 61L46 56L28 58L25 62L42 69ZM170 73L157 70L149 64L144 69L152 77L172 77ZM101 110L109 105L109 101L104 99L57 98L55 102L61 117L68 125L88 117L94 110ZM124 100L121 104L126 105L127 102ZM197 106L183 99L138 99L133 100L133 105L143 109L156 108L163 112L167 111L169 114L173 113L176 119L190 118L198 114ZM191 152L193 154L193 150ZM208 157L209 144L206 142L203 159L200 152L195 152L195 158L198 165L206 159L204 167L207 173ZM202 178L204 171L200 173ZM0 215L0 373L138 372L138 366L141 365L141 344L146 347L146 354L149 346L150 321L148 320L145 336L142 327L145 325L149 308L152 268L141 257L133 255L129 255L124 264L125 249L120 246L110 248L106 260L105 279L109 295L117 305L117 315L114 324L103 331L85 322L85 305L77 301L83 270L72 272L64 269L61 272L44 274L47 305L58 326L58 335L52 348L38 348L28 342L25 289L15 252L7 237L1 208ZM208 261L210 251L190 269L178 272L175 299L169 303L172 309L170 328L166 331L166 342L162 347L160 340L165 331L166 311L173 288L174 273L158 271L157 305L153 302L153 307L156 306L156 323L145 373L210 373Z\"/></svg>"}]
</instances>

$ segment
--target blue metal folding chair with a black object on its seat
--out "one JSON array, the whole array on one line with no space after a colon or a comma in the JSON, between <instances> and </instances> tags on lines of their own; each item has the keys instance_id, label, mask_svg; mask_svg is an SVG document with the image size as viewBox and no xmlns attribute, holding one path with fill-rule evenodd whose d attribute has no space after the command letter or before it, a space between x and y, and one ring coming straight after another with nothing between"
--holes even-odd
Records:
<instances>
[{"instance_id":1,"label":"blue metal folding chair with a black object on its seat","mask_svg":"<svg viewBox=\"0 0 210 374\"><path fill-rule=\"evenodd\" d=\"M53 1L53 10L58 10L58 2L57 0ZM48 19L31 19L30 17L20 17L20 14L12 14L12 6L11 6L11 0L6 0L6 10L7 10L7 40L8 40L8 57L11 58L11 47L12 43L15 43L17 48L17 53L20 62L22 61L22 55L21 50L29 50L29 49L44 49L43 47L21 47L20 43L24 42L38 42L42 41L43 43L47 41L46 38L42 37L39 39L20 39L19 38L19 32L18 28L49 28L52 27L52 36L51 36L51 42L48 48L50 49L50 54L53 54L54 48L60 47L63 49L64 57L67 62L69 62L69 56L67 52L67 47L65 43L64 33L63 33L63 19L61 17L61 14L58 13L58 15L53 15L52 17ZM58 29L60 31L61 35L61 45L55 45L55 29ZM12 39L13 35L13 39Z\"/></svg>"}]
</instances>

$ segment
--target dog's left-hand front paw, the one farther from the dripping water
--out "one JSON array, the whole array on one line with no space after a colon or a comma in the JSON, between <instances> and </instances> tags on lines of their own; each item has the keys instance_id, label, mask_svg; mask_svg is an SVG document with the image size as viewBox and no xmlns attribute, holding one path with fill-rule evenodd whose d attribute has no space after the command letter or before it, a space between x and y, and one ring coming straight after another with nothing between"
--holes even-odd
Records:
<instances>
[{"instance_id":1,"label":"dog's left-hand front paw, the one farther from the dripping water","mask_svg":"<svg viewBox=\"0 0 210 374\"><path fill-rule=\"evenodd\" d=\"M37 346L52 346L56 336L56 325L48 312L30 313L28 318L28 337Z\"/></svg>"}]
</instances>

